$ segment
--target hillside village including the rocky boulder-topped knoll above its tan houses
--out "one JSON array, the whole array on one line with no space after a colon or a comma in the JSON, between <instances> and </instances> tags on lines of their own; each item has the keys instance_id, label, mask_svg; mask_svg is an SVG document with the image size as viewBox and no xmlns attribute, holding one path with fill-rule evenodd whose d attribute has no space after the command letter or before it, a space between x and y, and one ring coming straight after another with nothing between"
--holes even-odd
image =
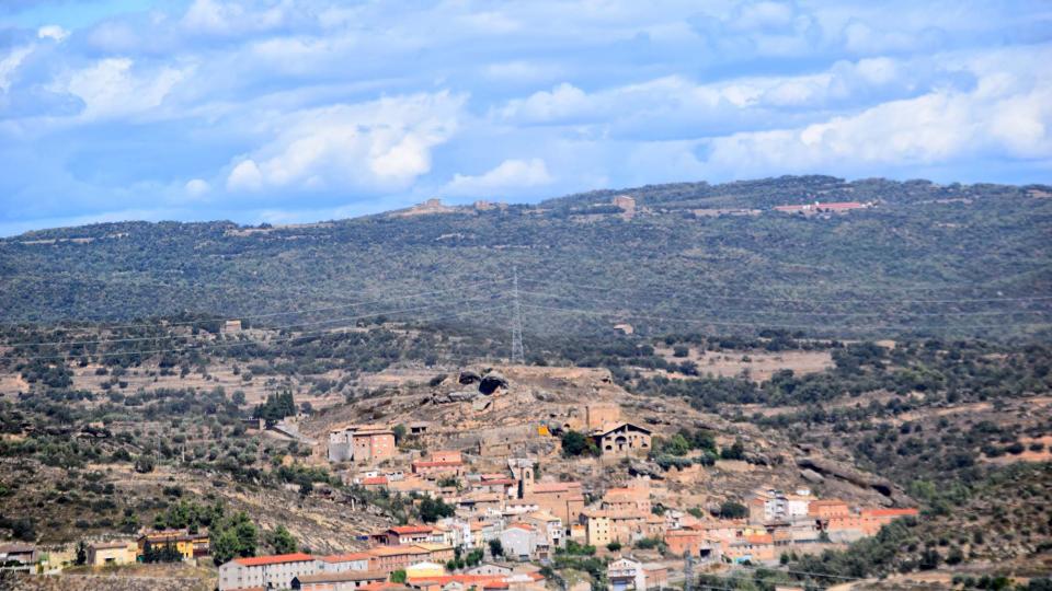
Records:
<instances>
[{"instance_id":1,"label":"hillside village including the rocky boulder-topped knoll above its tan houses","mask_svg":"<svg viewBox=\"0 0 1052 591\"><path fill-rule=\"evenodd\" d=\"M561 558L601 559L609 589L662 589L689 572L777 566L788 556L843 547L918 514L820 498L804 485L758 486L714 511L679 506L683 497L668 494L668 478L632 468L655 445L667 445L670 433L655 432L604 395L617 391L608 379L593 383L592 395L565 398L558 412L544 406L544 419L522 412L544 395L511 387L498 372L462 371L445 382L431 394L433 408L418 409L432 421L410 416L395 424L331 425L317 437L317 424L305 433L291 417L261 420L261 433L310 445L308 461L339 474L345 486L411 499L420 520L348 534L356 552L233 558L219 565L216 589L591 588L586 578L564 580L553 568ZM479 426L477 437L465 439L465 426L494 412L504 413L503 427ZM561 474L549 474L554 464ZM585 464L604 476L602 483ZM565 477L573 466L582 479ZM150 553L211 563L204 529L145 529L136 537L92 541L84 551L84 563L103 570L152 561ZM31 545L0 548L8 568L61 568L60 555L44 558Z\"/></svg>"}]
</instances>

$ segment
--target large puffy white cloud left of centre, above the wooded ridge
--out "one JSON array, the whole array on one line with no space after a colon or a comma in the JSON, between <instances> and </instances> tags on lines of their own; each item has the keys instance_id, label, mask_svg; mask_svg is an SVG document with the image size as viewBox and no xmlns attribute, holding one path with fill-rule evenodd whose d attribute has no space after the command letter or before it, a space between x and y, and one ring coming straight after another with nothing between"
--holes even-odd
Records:
<instances>
[{"instance_id":1,"label":"large puffy white cloud left of centre, above the wooded ridge","mask_svg":"<svg viewBox=\"0 0 1052 591\"><path fill-rule=\"evenodd\" d=\"M456 132L462 96L447 92L306 109L239 163L231 190L298 187L393 190L431 171L431 150Z\"/></svg>"}]
</instances>

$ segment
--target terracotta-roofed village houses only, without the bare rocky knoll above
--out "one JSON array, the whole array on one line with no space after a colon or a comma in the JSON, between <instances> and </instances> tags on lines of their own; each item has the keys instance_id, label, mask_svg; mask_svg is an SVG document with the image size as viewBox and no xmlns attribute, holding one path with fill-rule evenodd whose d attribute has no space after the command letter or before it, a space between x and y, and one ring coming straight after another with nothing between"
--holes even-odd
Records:
<instances>
[{"instance_id":1,"label":"terracotta-roofed village houses only, without the bare rocky knoll above","mask_svg":"<svg viewBox=\"0 0 1052 591\"><path fill-rule=\"evenodd\" d=\"M621 420L617 405L585 405L565 424L536 432L548 434L549 427L582 432L602 456L615 462L645 454L652 444L652 433ZM407 426L421 436L427 428ZM442 499L454 508L453 514L374 532L367 536L368 548L361 552L236 558L219 567L220 591L539 590L545 578L536 565L549 564L570 542L611 558L607 578L616 591L660 589L668 582L667 564L637 560L622 549L661 547L666 558L690 557L695 564L775 563L782 553L807 552L807 544L850 542L873 535L897 518L917 514L916 509L853 508L843 500L820 499L808 489L765 488L746 500L746 517L707 518L658 506L661 485L647 477L591 490L580 482L538 477L539 466L528 455L508 454L493 463L480 451L487 462L485 471L478 472L457 450L407 459L396 444L395 429L384 425L332 429L324 451L330 462L353 466L343 474L348 484ZM208 532L150 532L137 540L90 544L88 564L144 561L158 548L176 552L187 561L209 556ZM501 561L449 570L464 567L458 559L469 555ZM4 557L12 566L37 559L34 548L21 546L0 548L0 559Z\"/></svg>"}]
</instances>

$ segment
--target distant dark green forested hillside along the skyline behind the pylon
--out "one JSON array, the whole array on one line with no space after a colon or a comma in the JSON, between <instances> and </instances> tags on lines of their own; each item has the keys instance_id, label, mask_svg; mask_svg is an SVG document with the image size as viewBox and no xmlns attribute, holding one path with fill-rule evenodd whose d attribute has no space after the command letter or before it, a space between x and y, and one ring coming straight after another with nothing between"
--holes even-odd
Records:
<instances>
[{"instance_id":1,"label":"distant dark green forested hillside along the skyline behind the pylon","mask_svg":"<svg viewBox=\"0 0 1052 591\"><path fill-rule=\"evenodd\" d=\"M1040 186L804 176L537 206L425 204L295 227L44 230L0 241L0 321L190 311L328 326L387 313L455 314L485 327L504 324L516 267L525 329L538 337L619 322L652 334L688 324L723 334L1047 335L1049 195ZM614 205L621 196L634 202ZM773 209L815 201L867 207Z\"/></svg>"}]
</instances>

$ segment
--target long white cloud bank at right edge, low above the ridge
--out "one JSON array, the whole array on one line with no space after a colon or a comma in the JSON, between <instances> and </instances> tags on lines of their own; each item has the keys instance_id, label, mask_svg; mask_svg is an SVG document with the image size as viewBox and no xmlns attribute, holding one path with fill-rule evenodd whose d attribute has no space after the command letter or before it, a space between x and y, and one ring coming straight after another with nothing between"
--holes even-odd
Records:
<instances>
[{"instance_id":1,"label":"long white cloud bank at right edge, low above the ridge","mask_svg":"<svg viewBox=\"0 0 1052 591\"><path fill-rule=\"evenodd\" d=\"M935 91L797 129L734 134L708 144L723 175L866 173L965 158L1052 158L1052 85L1006 97Z\"/></svg>"}]
</instances>

